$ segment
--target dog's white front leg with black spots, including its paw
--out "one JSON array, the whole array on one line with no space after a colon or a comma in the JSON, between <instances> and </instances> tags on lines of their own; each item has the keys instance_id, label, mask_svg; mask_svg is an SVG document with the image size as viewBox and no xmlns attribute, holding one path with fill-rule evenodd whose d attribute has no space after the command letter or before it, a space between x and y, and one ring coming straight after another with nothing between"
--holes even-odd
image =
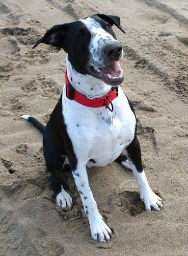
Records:
<instances>
[{"instance_id":1,"label":"dog's white front leg with black spots, including its paw","mask_svg":"<svg viewBox=\"0 0 188 256\"><path fill-rule=\"evenodd\" d=\"M77 168L72 172L72 174L82 198L84 210L88 216L92 239L99 242L109 241L112 231L104 223L102 216L99 214L97 203L89 185L86 165L83 166L83 163L77 164Z\"/></svg>"}]
</instances>

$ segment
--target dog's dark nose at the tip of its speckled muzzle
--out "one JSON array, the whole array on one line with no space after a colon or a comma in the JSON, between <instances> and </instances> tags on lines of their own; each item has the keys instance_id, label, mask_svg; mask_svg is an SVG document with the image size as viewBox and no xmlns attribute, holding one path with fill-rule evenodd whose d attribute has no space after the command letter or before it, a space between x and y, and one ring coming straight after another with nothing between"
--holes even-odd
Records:
<instances>
[{"instance_id":1,"label":"dog's dark nose at the tip of its speckled muzzle","mask_svg":"<svg viewBox=\"0 0 188 256\"><path fill-rule=\"evenodd\" d=\"M112 59L118 59L121 55L121 52L122 46L119 42L116 42L115 44L110 43L104 47L105 55L111 57Z\"/></svg>"}]
</instances>

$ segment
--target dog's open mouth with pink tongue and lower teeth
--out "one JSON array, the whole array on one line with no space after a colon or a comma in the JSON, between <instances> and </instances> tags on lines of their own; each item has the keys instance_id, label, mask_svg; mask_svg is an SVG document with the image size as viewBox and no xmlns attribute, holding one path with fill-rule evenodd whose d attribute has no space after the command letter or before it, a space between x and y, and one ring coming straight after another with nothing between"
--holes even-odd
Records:
<instances>
[{"instance_id":1,"label":"dog's open mouth with pink tongue and lower teeth","mask_svg":"<svg viewBox=\"0 0 188 256\"><path fill-rule=\"evenodd\" d=\"M87 71L89 75L103 80L110 86L119 86L124 80L120 61L115 61L105 67L88 66Z\"/></svg>"}]
</instances>

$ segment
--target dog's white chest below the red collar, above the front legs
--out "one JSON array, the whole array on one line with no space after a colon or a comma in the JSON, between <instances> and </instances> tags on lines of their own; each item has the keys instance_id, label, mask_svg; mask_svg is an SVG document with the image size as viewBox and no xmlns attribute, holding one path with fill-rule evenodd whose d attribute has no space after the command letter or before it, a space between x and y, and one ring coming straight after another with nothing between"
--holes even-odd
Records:
<instances>
[{"instance_id":1,"label":"dog's white chest below the red collar, above the front legs","mask_svg":"<svg viewBox=\"0 0 188 256\"><path fill-rule=\"evenodd\" d=\"M105 106L89 108L63 96L63 116L74 152L88 167L113 162L135 136L136 118L120 88L113 106L112 118Z\"/></svg>"}]
</instances>

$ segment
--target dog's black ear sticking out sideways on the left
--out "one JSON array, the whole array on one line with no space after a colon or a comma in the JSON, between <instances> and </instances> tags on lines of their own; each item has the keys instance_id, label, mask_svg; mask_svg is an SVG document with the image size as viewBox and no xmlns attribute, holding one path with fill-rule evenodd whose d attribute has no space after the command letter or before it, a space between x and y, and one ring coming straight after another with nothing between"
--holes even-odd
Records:
<instances>
[{"instance_id":1,"label":"dog's black ear sticking out sideways on the left","mask_svg":"<svg viewBox=\"0 0 188 256\"><path fill-rule=\"evenodd\" d=\"M33 49L41 42L46 45L62 48L63 37L67 31L68 24L56 25L48 30L45 35L39 39L34 45Z\"/></svg>"}]
</instances>

